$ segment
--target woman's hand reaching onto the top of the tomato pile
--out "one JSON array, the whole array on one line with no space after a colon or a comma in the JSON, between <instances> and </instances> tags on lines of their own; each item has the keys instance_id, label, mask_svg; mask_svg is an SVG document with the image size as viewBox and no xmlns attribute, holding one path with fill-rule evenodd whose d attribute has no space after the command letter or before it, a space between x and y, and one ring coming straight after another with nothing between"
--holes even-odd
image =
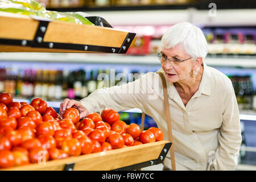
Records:
<instances>
[{"instance_id":1,"label":"woman's hand reaching onto the top of the tomato pile","mask_svg":"<svg viewBox=\"0 0 256 182\"><path fill-rule=\"evenodd\" d=\"M62 117L64 111L71 107L74 107L77 110L79 110L80 119L86 117L86 115L89 114L89 111L84 106L82 106L79 101L69 100L68 98L65 98L65 100L60 104L59 114L61 115L61 117Z\"/></svg>"}]
</instances>

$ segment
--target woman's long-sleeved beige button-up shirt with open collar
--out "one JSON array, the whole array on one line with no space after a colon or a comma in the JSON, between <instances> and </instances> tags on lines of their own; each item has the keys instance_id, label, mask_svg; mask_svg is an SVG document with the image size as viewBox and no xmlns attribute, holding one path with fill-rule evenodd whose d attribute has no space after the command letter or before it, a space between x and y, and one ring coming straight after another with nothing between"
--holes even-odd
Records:
<instances>
[{"instance_id":1,"label":"woman's long-sleeved beige button-up shirt with open collar","mask_svg":"<svg viewBox=\"0 0 256 182\"><path fill-rule=\"evenodd\" d=\"M159 69L162 71L162 69ZM167 82L177 170L234 170L241 145L239 110L232 82L204 63L199 89L184 106ZM81 100L90 113L111 107L139 108L150 115L168 140L163 86L157 73L146 73L121 86L98 89ZM164 164L171 168L170 152Z\"/></svg>"}]
</instances>

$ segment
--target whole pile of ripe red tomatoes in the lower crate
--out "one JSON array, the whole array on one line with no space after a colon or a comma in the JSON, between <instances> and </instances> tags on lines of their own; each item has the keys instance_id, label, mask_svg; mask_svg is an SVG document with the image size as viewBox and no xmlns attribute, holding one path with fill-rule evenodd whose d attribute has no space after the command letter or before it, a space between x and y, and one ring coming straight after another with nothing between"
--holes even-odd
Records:
<instances>
[{"instance_id":1,"label":"whole pile of ripe red tomatoes in the lower crate","mask_svg":"<svg viewBox=\"0 0 256 182\"><path fill-rule=\"evenodd\" d=\"M62 118L35 98L30 104L13 102L0 94L0 168L39 163L116 148L136 146L163 139L162 130L141 131L133 123L120 121L117 111L106 107L100 114L80 119L77 109L64 111Z\"/></svg>"}]
</instances>

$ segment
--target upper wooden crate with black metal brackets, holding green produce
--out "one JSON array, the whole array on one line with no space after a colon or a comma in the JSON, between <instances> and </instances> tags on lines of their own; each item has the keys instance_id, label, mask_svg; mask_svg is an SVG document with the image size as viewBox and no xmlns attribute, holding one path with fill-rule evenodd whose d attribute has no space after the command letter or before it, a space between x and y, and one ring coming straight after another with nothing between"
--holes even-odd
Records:
<instances>
[{"instance_id":1,"label":"upper wooden crate with black metal brackets, holding green produce","mask_svg":"<svg viewBox=\"0 0 256 182\"><path fill-rule=\"evenodd\" d=\"M126 53L135 34L0 11L0 52Z\"/></svg>"}]
</instances>

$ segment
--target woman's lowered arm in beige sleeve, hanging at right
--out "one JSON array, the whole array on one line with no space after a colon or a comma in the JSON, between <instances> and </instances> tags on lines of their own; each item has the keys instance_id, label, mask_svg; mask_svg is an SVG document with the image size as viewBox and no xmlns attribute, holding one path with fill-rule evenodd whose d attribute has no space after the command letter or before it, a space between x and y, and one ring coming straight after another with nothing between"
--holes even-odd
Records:
<instances>
[{"instance_id":1,"label":"woman's lowered arm in beige sleeve, hanging at right","mask_svg":"<svg viewBox=\"0 0 256 182\"><path fill-rule=\"evenodd\" d=\"M222 126L218 133L219 146L215 158L210 161L210 170L234 170L242 142L239 110L231 81L225 96Z\"/></svg>"}]
</instances>

